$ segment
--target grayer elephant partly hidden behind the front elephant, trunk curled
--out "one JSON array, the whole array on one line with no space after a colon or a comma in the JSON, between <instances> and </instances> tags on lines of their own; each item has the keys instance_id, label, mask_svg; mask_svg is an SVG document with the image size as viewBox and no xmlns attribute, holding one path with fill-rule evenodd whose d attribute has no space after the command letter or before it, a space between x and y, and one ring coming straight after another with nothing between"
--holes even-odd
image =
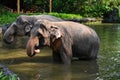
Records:
<instances>
[{"instance_id":1,"label":"grayer elephant partly hidden behind the front elephant, trunk curled","mask_svg":"<svg viewBox=\"0 0 120 80\"><path fill-rule=\"evenodd\" d=\"M50 15L34 15L34 16L27 16L27 15L20 15L15 22L13 22L9 28L5 31L3 40L10 44L14 42L17 36L29 36L30 31L33 28L34 23L37 20L46 19L49 21L63 21L60 18L56 18Z\"/></svg>"}]
</instances>

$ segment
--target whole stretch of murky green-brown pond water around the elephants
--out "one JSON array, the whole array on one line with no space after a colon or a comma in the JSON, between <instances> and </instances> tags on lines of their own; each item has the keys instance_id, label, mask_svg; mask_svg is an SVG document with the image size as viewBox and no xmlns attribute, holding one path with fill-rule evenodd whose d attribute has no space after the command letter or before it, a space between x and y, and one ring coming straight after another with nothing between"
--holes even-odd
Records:
<instances>
[{"instance_id":1,"label":"whole stretch of murky green-brown pond water around the elephants","mask_svg":"<svg viewBox=\"0 0 120 80\"><path fill-rule=\"evenodd\" d=\"M26 55L25 49L0 48L0 63L21 80L120 80L120 24L92 27L101 40L97 61L73 60L71 66L66 66L52 62L49 48L33 58Z\"/></svg>"}]
</instances>

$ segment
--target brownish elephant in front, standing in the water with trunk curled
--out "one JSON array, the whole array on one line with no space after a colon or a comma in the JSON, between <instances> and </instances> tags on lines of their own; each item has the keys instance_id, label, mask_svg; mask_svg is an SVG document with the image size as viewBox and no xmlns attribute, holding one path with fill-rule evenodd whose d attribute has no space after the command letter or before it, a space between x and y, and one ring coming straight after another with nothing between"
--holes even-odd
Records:
<instances>
[{"instance_id":1,"label":"brownish elephant in front, standing in the water with trunk curled","mask_svg":"<svg viewBox=\"0 0 120 80\"><path fill-rule=\"evenodd\" d=\"M52 49L53 61L71 64L72 58L97 59L100 39L92 28L71 21L37 21L26 45L27 55L33 57L40 48Z\"/></svg>"}]
</instances>

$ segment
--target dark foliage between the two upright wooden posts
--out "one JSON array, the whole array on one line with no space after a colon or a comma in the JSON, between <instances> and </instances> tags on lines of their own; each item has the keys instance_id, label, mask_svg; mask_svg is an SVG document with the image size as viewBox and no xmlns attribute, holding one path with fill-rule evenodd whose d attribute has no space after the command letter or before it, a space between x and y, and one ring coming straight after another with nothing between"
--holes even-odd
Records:
<instances>
[{"instance_id":1,"label":"dark foliage between the two upright wooden posts","mask_svg":"<svg viewBox=\"0 0 120 80\"><path fill-rule=\"evenodd\" d=\"M49 0L24 0L24 10L31 12L49 12Z\"/></svg>"}]
</instances>

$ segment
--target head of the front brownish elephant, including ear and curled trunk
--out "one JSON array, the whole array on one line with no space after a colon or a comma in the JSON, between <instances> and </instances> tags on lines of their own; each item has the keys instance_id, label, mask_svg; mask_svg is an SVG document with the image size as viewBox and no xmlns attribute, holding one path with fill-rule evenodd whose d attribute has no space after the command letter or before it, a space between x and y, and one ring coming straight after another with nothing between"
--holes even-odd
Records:
<instances>
[{"instance_id":1,"label":"head of the front brownish elephant, including ear and curled trunk","mask_svg":"<svg viewBox=\"0 0 120 80\"><path fill-rule=\"evenodd\" d=\"M36 22L26 46L27 55L32 57L40 51L39 48L44 46L51 47L52 43L60 37L62 37L62 33L58 26L52 25L47 20Z\"/></svg>"}]
</instances>

